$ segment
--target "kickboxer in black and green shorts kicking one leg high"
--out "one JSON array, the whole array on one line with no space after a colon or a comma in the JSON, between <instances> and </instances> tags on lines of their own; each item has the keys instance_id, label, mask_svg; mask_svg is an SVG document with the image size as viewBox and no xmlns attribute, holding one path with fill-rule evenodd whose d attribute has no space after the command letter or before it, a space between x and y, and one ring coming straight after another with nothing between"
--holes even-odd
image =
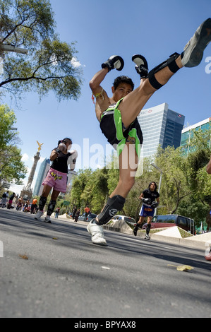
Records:
<instances>
[{"instance_id":1,"label":"kickboxer in black and green shorts kicking one leg high","mask_svg":"<svg viewBox=\"0 0 211 332\"><path fill-rule=\"evenodd\" d=\"M92 100L96 98L96 117L100 121L102 133L109 143L116 147L119 156L119 183L101 213L91 220L87 227L92 243L107 245L102 225L107 224L112 215L123 209L126 197L135 183L140 146L143 143L138 114L155 91L162 88L183 66L194 67L200 64L203 50L211 41L210 32L211 18L208 18L200 25L181 54L171 54L167 61L149 73L146 59L140 54L135 54L132 61L140 75L140 85L135 90L131 78L127 76L116 78L111 88L112 97L108 97L102 88L101 83L111 69L123 69L123 59L116 55L109 57L102 64L102 69L91 79Z\"/></svg>"}]
</instances>

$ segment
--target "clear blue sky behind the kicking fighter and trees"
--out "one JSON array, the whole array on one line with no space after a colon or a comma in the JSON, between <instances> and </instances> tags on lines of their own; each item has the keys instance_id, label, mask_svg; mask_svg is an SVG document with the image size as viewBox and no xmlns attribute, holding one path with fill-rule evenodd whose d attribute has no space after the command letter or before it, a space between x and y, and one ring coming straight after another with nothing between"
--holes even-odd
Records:
<instances>
[{"instance_id":1,"label":"clear blue sky behind the kicking fighter and trees","mask_svg":"<svg viewBox=\"0 0 211 332\"><path fill-rule=\"evenodd\" d=\"M96 144L104 149L107 146L95 118L89 88L89 81L101 69L102 62L113 54L119 54L125 62L121 73L111 71L102 83L109 95L119 74L130 76L137 87L140 81L131 61L133 54L143 54L152 69L170 54L181 53L200 23L211 17L210 0L51 0L51 3L60 39L69 44L76 42L83 87L78 101L59 103L51 93L40 102L35 93L29 93L21 102L21 109L16 109L16 105L5 100L16 112L20 148L29 170L38 148L36 141L44 143L41 150L44 159L66 136L80 147L79 166L92 166L90 158ZM167 102L169 109L185 115L186 124L210 117L211 73L206 73L206 68L211 69L211 43L198 67L181 69L150 98L145 108ZM40 163L36 174L39 168ZM11 186L16 193L20 189Z\"/></svg>"}]
</instances>

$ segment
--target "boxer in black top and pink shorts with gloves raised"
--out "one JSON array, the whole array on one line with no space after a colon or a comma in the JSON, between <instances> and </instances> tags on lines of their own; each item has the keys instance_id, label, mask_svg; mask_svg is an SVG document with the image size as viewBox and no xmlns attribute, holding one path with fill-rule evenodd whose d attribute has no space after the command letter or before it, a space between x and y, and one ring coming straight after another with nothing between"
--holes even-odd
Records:
<instances>
[{"instance_id":1,"label":"boxer in black top and pink shorts with gloves raised","mask_svg":"<svg viewBox=\"0 0 211 332\"><path fill-rule=\"evenodd\" d=\"M43 215L43 210L45 203L47 201L47 196L53 188L51 201L49 202L47 208L47 216L45 217L45 223L51 223L50 216L54 212L56 206L56 199L59 196L60 192L66 193L66 184L67 184L67 174L68 174L68 165L71 170L74 170L76 166L76 158L78 153L76 150L71 149L72 141L71 138L64 138L58 142L57 148L52 150L50 155L50 160L52 165L47 173L47 177L42 182L44 186L42 195L40 196L39 211L35 215L36 220L41 220Z\"/></svg>"}]
</instances>

